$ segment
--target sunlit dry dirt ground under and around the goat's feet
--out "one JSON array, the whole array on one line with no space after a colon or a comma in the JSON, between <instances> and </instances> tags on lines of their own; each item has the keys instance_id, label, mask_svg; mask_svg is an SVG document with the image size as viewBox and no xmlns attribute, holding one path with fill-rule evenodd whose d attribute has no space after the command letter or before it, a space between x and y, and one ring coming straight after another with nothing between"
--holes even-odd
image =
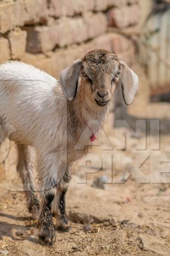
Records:
<instances>
[{"instance_id":1,"label":"sunlit dry dirt ground under and around the goat's feet","mask_svg":"<svg viewBox=\"0 0 170 256\"><path fill-rule=\"evenodd\" d=\"M0 255L170 256L170 177L161 174L170 169L170 105L136 104L128 122L134 125L136 116L147 120L147 140L142 124L136 134L111 129L110 114L107 137L102 133L98 146L74 168L66 198L71 230L57 232L52 247L39 244L24 193L11 191L20 182L11 162L0 186ZM160 138L153 119L161 120ZM95 187L97 182L91 186L96 178L107 183L104 189Z\"/></svg>"}]
</instances>

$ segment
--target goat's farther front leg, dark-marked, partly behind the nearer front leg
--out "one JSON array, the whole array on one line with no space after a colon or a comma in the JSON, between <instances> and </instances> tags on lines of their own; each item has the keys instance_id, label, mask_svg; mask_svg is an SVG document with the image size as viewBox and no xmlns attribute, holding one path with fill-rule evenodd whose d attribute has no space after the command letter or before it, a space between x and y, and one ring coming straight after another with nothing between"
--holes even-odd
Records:
<instances>
[{"instance_id":1,"label":"goat's farther front leg, dark-marked, partly behind the nearer front leg","mask_svg":"<svg viewBox=\"0 0 170 256\"><path fill-rule=\"evenodd\" d=\"M68 171L66 171L62 183L57 187L56 195L52 204L52 212L57 221L55 229L60 232L68 232L70 230L70 224L65 214L65 194L70 180L71 176Z\"/></svg>"}]
</instances>

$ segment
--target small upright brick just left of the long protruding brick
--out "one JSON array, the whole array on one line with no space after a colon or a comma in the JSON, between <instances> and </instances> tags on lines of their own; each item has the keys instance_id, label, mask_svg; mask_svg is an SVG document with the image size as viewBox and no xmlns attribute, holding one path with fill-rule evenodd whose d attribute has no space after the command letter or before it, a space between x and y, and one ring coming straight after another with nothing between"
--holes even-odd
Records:
<instances>
[{"instance_id":1,"label":"small upright brick just left of the long protruding brick","mask_svg":"<svg viewBox=\"0 0 170 256\"><path fill-rule=\"evenodd\" d=\"M15 28L8 33L8 40L11 48L11 58L13 60L23 57L26 51L27 32L20 28Z\"/></svg>"}]
</instances>

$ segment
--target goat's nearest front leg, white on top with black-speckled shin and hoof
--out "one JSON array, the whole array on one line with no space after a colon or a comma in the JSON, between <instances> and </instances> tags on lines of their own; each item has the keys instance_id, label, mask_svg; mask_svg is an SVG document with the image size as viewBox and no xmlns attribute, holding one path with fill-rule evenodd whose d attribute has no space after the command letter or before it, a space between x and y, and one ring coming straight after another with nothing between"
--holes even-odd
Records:
<instances>
[{"instance_id":1,"label":"goat's nearest front leg, white on top with black-speckled shin and hoof","mask_svg":"<svg viewBox=\"0 0 170 256\"><path fill-rule=\"evenodd\" d=\"M41 244L52 245L55 241L55 231L52 222L51 204L56 188L63 177L63 168L60 168L56 155L38 157L38 179L40 184L42 207L38 219L39 239Z\"/></svg>"}]
</instances>

